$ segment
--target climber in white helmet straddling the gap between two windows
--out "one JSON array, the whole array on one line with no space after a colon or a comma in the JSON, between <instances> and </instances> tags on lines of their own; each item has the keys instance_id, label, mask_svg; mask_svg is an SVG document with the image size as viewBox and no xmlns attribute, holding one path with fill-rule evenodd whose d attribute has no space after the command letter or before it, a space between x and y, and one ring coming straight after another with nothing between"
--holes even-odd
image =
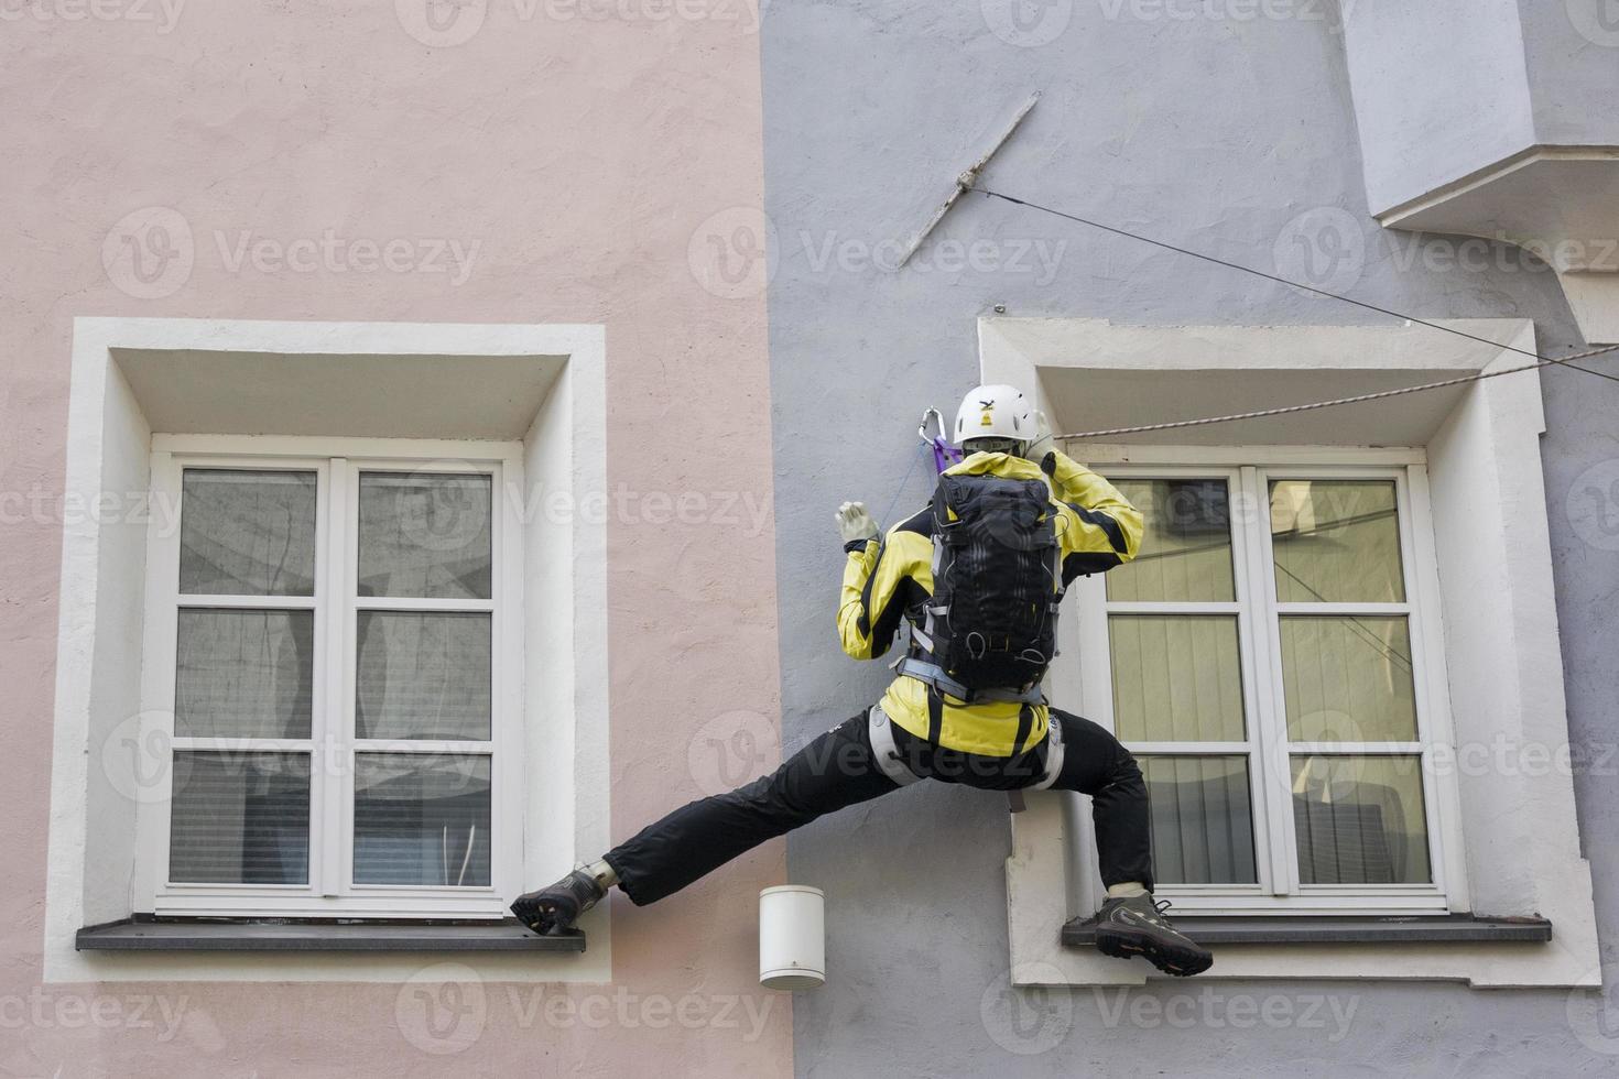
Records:
<instances>
[{"instance_id":1,"label":"climber in white helmet straddling the gap between two windows","mask_svg":"<svg viewBox=\"0 0 1619 1079\"><path fill-rule=\"evenodd\" d=\"M1104 728L1046 704L1064 589L1135 556L1141 514L1107 480L1052 446L1030 400L1005 385L962 401L933 503L881 535L847 501L837 613L843 650L884 655L907 637L897 678L871 709L834 726L772 775L648 825L512 911L538 933L565 930L617 885L641 906L816 817L931 778L989 791L1091 796L1107 896L1096 946L1200 974L1213 956L1153 899L1148 794L1130 752Z\"/></svg>"}]
</instances>

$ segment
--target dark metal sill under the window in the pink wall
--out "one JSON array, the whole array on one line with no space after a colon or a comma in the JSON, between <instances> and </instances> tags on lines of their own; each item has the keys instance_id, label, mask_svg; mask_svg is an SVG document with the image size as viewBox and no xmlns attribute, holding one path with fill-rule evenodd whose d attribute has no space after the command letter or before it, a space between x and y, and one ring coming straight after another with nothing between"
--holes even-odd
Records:
<instances>
[{"instance_id":1,"label":"dark metal sill under the window in the pink wall","mask_svg":"<svg viewBox=\"0 0 1619 1079\"><path fill-rule=\"evenodd\" d=\"M584 933L536 937L521 922L159 919L86 925L78 951L584 951Z\"/></svg>"}]
</instances>

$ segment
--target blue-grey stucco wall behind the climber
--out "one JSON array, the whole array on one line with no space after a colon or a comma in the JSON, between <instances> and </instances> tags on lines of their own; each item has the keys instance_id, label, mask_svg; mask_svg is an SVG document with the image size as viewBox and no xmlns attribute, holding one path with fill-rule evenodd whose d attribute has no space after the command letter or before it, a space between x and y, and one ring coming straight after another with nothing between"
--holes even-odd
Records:
<instances>
[{"instance_id":1,"label":"blue-grey stucco wall behind the climber","mask_svg":"<svg viewBox=\"0 0 1619 1079\"><path fill-rule=\"evenodd\" d=\"M903 510L887 510L918 459L923 406L954 408L976 379L979 314L1005 304L1015 315L1146 324L1375 320L981 197L960 204L905 272L861 260L882 243L892 256L894 241L926 220L1030 91L1044 91L1044 100L996 159L991 186L1261 269L1276 267L1281 251L1285 273L1307 269L1289 262L1297 238L1305 251L1318 241L1326 257L1337 249L1328 233L1350 228L1349 264L1315 269L1336 270L1332 283L1358 298L1433 317L1532 317L1553 349L1577 340L1549 273L1515 257L1506 270L1425 269L1418 241L1368 218L1331 5L1273 5L1294 15L1240 21L1192 3L1177 10L1200 15L1174 19L1130 0L1114 18L1112 0L1057 0L1030 5L1033 23L1022 26L1033 29L1023 31L1005 18L1010 6L780 2L764 23L766 199L780 252L769 311L788 751L881 692L884 666L856 666L837 649L843 560L832 510L863 498L887 524L926 497L918 466L899 492ZM1237 0L1214 10L1247 8ZM976 267L958 269L939 246L950 239L991 243ZM1051 269L1033 254L1041 244ZM1619 383L1554 370L1545 393L1570 733L1575 744L1613 743L1619 542L1590 529L1582 539L1567 505L1593 476L1606 477L1590 468L1619 458ZM1604 510L1619 514L1619 501ZM1611 775L1580 775L1575 786L1611 941L1619 938L1619 791ZM829 925L829 982L795 1001L800 1074L1619 1069L1619 1056L1570 1030L1567 993L1443 984L1209 980L1124 996L1035 993L1010 1013L1023 1026L1009 1032L1007 851L1001 798L937 785L790 838L792 878L827 890ZM1271 1008L1269 1018L1248 1018L1250 1005Z\"/></svg>"}]
</instances>

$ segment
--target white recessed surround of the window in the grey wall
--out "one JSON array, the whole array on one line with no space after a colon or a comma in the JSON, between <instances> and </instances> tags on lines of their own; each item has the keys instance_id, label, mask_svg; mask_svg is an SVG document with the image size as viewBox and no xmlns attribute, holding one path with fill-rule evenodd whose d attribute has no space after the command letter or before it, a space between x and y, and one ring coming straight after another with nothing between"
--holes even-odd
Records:
<instances>
[{"instance_id":1,"label":"white recessed surround of the window in the grey wall","mask_svg":"<svg viewBox=\"0 0 1619 1079\"><path fill-rule=\"evenodd\" d=\"M1535 348L1519 319L1426 327L1140 327L1103 319L981 319L984 382L1033 387L1062 432L1235 413L1415 385L1515 366ZM1180 464L1224 446L1245 464L1426 463L1439 618L1425 637L1449 673L1454 747L1556 751L1569 746L1551 579L1535 374L1491 379L1375 404L1090 443L1086 463ZM1159 437L1162 438L1162 437ZM1196 450L1190 448L1196 446ZM1423 535L1418 532L1418 544ZM1077 647L1073 607L1067 647ZM1434 624L1441 623L1441 624ZM1057 702L1081 700L1083 658L1052 670ZM1580 856L1574 785L1557 768L1457 768L1460 843L1451 875L1457 909L1540 914L1553 941L1523 945L1232 945L1214 977L1447 979L1475 987L1598 985L1590 865ZM1064 948L1059 932L1098 903L1086 799L1043 794L1012 817L1007 911L1012 979L1020 985L1130 985L1145 964ZM1070 843L1070 838L1075 840ZM1080 843L1078 840L1083 840ZM1459 849L1457 849L1459 848Z\"/></svg>"}]
</instances>

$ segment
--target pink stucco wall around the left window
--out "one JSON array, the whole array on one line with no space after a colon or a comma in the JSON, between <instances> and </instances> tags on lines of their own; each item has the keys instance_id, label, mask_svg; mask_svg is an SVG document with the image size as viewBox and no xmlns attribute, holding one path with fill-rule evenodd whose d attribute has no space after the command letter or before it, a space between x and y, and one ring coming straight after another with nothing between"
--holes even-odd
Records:
<instances>
[{"instance_id":1,"label":"pink stucco wall around the left window","mask_svg":"<svg viewBox=\"0 0 1619 1079\"><path fill-rule=\"evenodd\" d=\"M703 269L761 204L756 15L466 0L482 23L448 44L471 23L434 0L452 29L429 29L426 3L0 5L0 490L29 495L0 521L0 1074L792 1073L790 1000L758 988L754 953L780 844L657 908L615 896L610 987L486 987L452 1056L402 1034L395 985L40 984L74 315L601 322L609 485L769 506L763 290ZM183 220L191 264L146 281L118 230L151 207ZM395 241L392 264L364 241ZM712 783L716 731L774 752L771 518L698 516L609 524L618 838ZM536 988L596 1003L536 1019ZM704 1029L656 1003L693 995L709 1016L742 1000ZM160 998L185 1001L167 1037Z\"/></svg>"}]
</instances>

